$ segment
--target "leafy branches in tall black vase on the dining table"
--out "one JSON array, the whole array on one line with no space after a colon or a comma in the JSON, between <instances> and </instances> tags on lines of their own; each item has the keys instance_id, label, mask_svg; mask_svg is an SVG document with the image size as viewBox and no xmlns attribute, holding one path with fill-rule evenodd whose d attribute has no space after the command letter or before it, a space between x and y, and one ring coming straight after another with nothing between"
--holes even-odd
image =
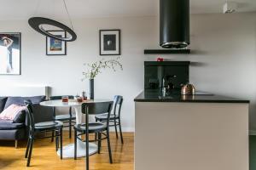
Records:
<instances>
[{"instance_id":1,"label":"leafy branches in tall black vase on the dining table","mask_svg":"<svg viewBox=\"0 0 256 170\"><path fill-rule=\"evenodd\" d=\"M84 63L85 71L83 71L82 81L90 80L90 99L94 99L94 79L95 77L102 73L105 69L111 69L116 71L116 68L123 70L123 65L119 62L119 57L116 59L101 59L93 63Z\"/></svg>"}]
</instances>

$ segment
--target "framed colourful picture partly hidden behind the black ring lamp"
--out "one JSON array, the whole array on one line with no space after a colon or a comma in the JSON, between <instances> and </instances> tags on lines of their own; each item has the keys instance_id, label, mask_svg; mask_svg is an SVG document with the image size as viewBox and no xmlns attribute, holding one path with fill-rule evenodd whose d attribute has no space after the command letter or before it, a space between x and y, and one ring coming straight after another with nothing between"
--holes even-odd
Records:
<instances>
[{"instance_id":1,"label":"framed colourful picture partly hidden behind the black ring lamp","mask_svg":"<svg viewBox=\"0 0 256 170\"><path fill-rule=\"evenodd\" d=\"M66 37L66 31L49 31L57 37ZM46 37L46 55L66 55L67 43L53 37Z\"/></svg>"}]
</instances>

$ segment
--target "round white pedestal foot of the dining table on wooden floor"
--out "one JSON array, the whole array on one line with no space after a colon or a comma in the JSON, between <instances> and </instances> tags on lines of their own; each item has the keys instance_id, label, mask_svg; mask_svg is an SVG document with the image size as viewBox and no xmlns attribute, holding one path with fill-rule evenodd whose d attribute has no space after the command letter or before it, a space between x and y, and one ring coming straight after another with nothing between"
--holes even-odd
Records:
<instances>
[{"instance_id":1,"label":"round white pedestal foot of the dining table on wooden floor","mask_svg":"<svg viewBox=\"0 0 256 170\"><path fill-rule=\"evenodd\" d=\"M86 156L86 146L85 143L77 140L77 157ZM89 156L95 154L98 151L98 147L94 143L89 143ZM61 150L57 151L58 156L61 156ZM63 158L73 158L74 157L74 144L67 144L62 148Z\"/></svg>"}]
</instances>

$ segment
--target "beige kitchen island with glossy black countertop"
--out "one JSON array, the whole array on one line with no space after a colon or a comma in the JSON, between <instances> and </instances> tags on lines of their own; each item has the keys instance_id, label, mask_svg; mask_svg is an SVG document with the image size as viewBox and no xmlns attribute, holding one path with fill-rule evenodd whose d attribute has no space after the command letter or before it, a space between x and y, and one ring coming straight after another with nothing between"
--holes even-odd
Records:
<instances>
[{"instance_id":1,"label":"beige kitchen island with glossy black countertop","mask_svg":"<svg viewBox=\"0 0 256 170\"><path fill-rule=\"evenodd\" d=\"M135 101L136 170L248 170L249 101L197 93Z\"/></svg>"}]
</instances>

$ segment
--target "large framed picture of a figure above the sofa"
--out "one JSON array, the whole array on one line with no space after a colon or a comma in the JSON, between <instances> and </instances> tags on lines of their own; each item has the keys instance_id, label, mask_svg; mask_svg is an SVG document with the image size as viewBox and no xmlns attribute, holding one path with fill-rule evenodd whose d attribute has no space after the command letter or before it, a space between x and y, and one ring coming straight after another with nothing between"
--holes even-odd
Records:
<instances>
[{"instance_id":1,"label":"large framed picture of a figure above the sofa","mask_svg":"<svg viewBox=\"0 0 256 170\"><path fill-rule=\"evenodd\" d=\"M0 75L20 75L20 32L0 33Z\"/></svg>"}]
</instances>

